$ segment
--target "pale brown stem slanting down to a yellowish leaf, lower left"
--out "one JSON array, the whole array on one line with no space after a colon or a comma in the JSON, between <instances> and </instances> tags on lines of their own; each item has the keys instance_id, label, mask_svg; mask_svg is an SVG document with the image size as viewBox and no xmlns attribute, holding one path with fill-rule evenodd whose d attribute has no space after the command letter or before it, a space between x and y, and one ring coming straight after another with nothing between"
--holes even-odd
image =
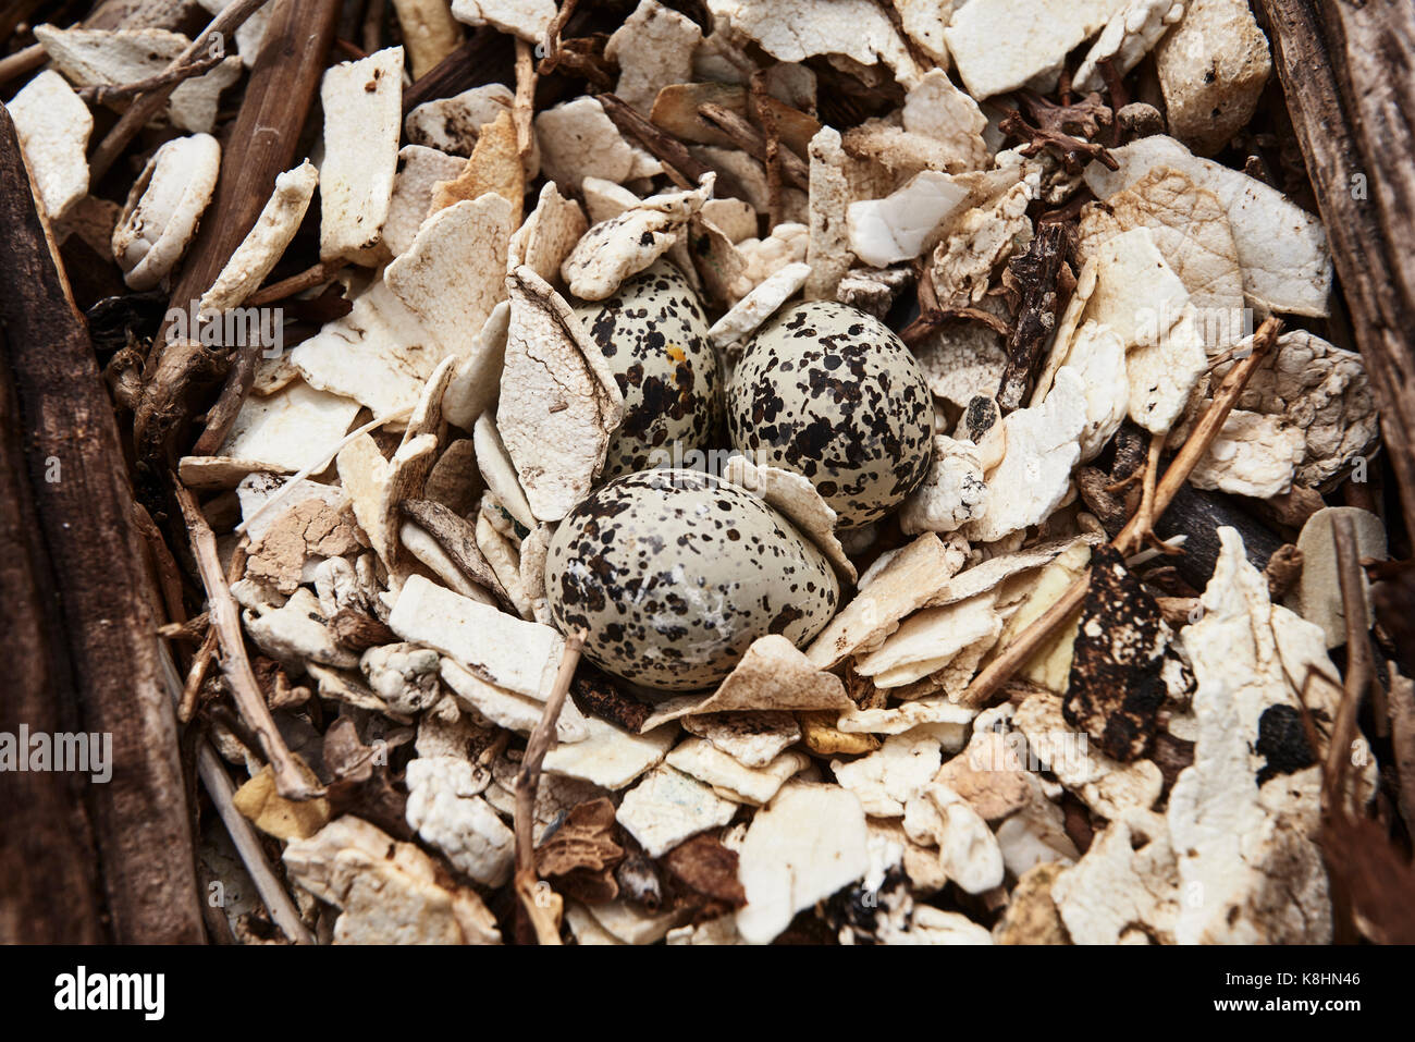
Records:
<instances>
[{"instance_id":1,"label":"pale brown stem slanting down to a yellowish leaf, lower left","mask_svg":"<svg viewBox=\"0 0 1415 1042\"><path fill-rule=\"evenodd\" d=\"M256 733L260 749L275 770L275 784L280 796L287 800L311 800L320 794L320 790L310 786L300 773L290 749L275 726L260 684L250 668L245 636L241 631L241 609L236 606L236 599L226 585L226 576L221 571L221 561L216 556L216 537L212 535L211 525L207 524L195 497L177 481L175 476L173 477L173 490L191 535L191 552L197 558L202 586L207 588L212 626L216 629L221 643L221 671L231 684L231 694L236 699L241 718Z\"/></svg>"}]
</instances>

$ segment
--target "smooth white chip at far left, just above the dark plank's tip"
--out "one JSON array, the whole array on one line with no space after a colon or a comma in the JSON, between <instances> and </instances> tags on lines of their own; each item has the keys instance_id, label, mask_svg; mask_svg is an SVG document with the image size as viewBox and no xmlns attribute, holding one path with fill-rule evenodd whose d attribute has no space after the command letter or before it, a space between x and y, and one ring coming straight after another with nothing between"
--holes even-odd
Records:
<instances>
[{"instance_id":1,"label":"smooth white chip at far left, just above the dark plank's tip","mask_svg":"<svg viewBox=\"0 0 1415 1042\"><path fill-rule=\"evenodd\" d=\"M93 115L54 69L44 69L6 105L24 161L51 221L88 195L88 149Z\"/></svg>"}]
</instances>

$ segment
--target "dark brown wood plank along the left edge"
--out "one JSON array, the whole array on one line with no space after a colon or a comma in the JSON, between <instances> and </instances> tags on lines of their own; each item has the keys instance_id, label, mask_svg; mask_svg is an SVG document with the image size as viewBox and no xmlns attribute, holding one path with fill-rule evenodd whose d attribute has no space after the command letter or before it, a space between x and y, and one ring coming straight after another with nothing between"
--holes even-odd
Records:
<instances>
[{"instance_id":1,"label":"dark brown wood plank along the left edge","mask_svg":"<svg viewBox=\"0 0 1415 1042\"><path fill-rule=\"evenodd\" d=\"M108 783L0 777L0 940L200 941L175 718L117 425L3 106L0 228L0 722L112 735Z\"/></svg>"}]
</instances>

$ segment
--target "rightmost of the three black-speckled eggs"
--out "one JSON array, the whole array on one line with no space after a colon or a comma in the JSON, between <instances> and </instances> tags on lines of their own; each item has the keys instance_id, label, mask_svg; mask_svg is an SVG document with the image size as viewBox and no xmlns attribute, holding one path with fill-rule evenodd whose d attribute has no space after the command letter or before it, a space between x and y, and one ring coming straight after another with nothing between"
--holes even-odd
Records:
<instances>
[{"instance_id":1,"label":"rightmost of the three black-speckled eggs","mask_svg":"<svg viewBox=\"0 0 1415 1042\"><path fill-rule=\"evenodd\" d=\"M831 300L764 326L727 388L733 447L808 477L842 528L883 517L924 480L932 422L928 382L904 341Z\"/></svg>"}]
</instances>

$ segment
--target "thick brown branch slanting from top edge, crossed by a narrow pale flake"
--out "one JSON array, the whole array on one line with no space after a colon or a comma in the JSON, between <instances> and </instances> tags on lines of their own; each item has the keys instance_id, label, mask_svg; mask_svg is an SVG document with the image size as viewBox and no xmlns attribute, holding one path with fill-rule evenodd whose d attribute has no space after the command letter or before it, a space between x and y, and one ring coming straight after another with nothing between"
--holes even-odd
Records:
<instances>
[{"instance_id":1,"label":"thick brown branch slanting from top edge, crossed by a narrow pale flake","mask_svg":"<svg viewBox=\"0 0 1415 1042\"><path fill-rule=\"evenodd\" d=\"M338 0L279 0L273 6L265 45L222 149L216 194L173 286L173 307L191 307L211 287L255 227L275 178L294 161L338 13ZM226 362L221 351L201 344L167 344L166 331L164 323L144 367L134 418L139 494L154 517L167 513L164 483L178 443L185 443L192 409L205 408L204 399Z\"/></svg>"}]
</instances>

